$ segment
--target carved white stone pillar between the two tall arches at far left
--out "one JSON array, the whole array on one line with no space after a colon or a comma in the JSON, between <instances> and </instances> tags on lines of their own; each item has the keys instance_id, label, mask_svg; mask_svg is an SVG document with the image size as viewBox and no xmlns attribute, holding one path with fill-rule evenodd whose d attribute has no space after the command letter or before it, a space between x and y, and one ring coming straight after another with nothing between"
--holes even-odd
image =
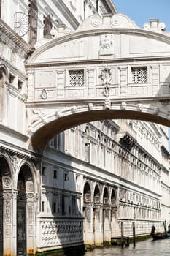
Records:
<instances>
[{"instance_id":1,"label":"carved white stone pillar between the two tall arches at far left","mask_svg":"<svg viewBox=\"0 0 170 256\"><path fill-rule=\"evenodd\" d=\"M17 212L17 191L5 189L4 199L4 256L17 255L16 241L16 212Z\"/></svg>"}]
</instances>

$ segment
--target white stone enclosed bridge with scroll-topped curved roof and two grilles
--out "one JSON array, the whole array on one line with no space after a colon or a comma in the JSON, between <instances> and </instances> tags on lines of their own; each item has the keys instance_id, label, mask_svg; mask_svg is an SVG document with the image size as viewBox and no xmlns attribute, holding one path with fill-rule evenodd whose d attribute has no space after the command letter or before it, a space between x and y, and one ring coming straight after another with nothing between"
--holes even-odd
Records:
<instances>
[{"instance_id":1,"label":"white stone enclosed bridge with scroll-topped curved roof and two grilles","mask_svg":"<svg viewBox=\"0 0 170 256\"><path fill-rule=\"evenodd\" d=\"M26 63L30 147L99 119L170 126L170 34L157 19L140 29L122 14L95 15L36 47Z\"/></svg>"}]
</instances>

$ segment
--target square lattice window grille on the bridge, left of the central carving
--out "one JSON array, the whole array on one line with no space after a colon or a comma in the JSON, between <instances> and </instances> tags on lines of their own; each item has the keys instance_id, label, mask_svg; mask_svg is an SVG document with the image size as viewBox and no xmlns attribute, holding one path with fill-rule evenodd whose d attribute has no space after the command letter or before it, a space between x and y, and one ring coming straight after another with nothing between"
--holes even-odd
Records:
<instances>
[{"instance_id":1,"label":"square lattice window grille on the bridge, left of the central carving","mask_svg":"<svg viewBox=\"0 0 170 256\"><path fill-rule=\"evenodd\" d=\"M84 70L69 70L69 85L84 86Z\"/></svg>"}]
</instances>

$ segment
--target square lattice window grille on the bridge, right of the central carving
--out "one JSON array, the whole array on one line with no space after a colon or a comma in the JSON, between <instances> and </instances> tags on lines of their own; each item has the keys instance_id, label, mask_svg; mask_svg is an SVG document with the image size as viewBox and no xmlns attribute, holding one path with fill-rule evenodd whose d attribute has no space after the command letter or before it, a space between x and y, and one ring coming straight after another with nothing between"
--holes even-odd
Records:
<instances>
[{"instance_id":1,"label":"square lattice window grille on the bridge, right of the central carving","mask_svg":"<svg viewBox=\"0 0 170 256\"><path fill-rule=\"evenodd\" d=\"M132 67L131 76L133 83L147 83L147 67Z\"/></svg>"}]
</instances>

